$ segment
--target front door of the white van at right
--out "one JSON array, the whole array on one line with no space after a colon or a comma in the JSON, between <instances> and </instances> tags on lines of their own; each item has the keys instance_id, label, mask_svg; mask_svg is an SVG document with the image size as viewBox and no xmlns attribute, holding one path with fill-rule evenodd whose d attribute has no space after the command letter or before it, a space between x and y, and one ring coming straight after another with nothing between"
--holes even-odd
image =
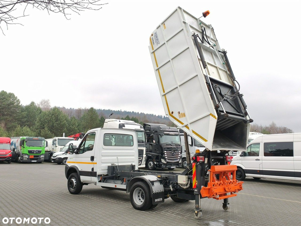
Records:
<instances>
[{"instance_id":1,"label":"front door of the white van at right","mask_svg":"<svg viewBox=\"0 0 301 226\"><path fill-rule=\"evenodd\" d=\"M242 165L245 167L246 176L262 176L262 154L260 152L261 143L253 143L247 147L247 151L241 158Z\"/></svg>"}]
</instances>

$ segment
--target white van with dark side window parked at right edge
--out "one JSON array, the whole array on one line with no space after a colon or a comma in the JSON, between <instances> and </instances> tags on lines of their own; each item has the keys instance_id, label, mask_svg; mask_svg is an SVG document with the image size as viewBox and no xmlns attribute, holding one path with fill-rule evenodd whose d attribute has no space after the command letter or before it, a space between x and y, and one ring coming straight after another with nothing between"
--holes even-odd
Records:
<instances>
[{"instance_id":1,"label":"white van with dark side window parked at right edge","mask_svg":"<svg viewBox=\"0 0 301 226\"><path fill-rule=\"evenodd\" d=\"M301 180L301 133L261 135L231 165L237 165L237 180L246 176Z\"/></svg>"}]
</instances>

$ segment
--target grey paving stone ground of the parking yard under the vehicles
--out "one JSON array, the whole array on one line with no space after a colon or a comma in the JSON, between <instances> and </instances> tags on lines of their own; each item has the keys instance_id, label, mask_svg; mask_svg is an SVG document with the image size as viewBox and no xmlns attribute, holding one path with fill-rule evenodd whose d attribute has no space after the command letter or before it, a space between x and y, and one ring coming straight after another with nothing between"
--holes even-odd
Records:
<instances>
[{"instance_id":1,"label":"grey paving stone ground of the parking yard under the vehicles","mask_svg":"<svg viewBox=\"0 0 301 226\"><path fill-rule=\"evenodd\" d=\"M203 217L194 219L194 201L166 199L154 209L138 211L123 191L90 184L71 195L64 168L48 162L0 163L0 225L16 225L3 224L4 217L49 217L51 226L301 225L301 181L247 177L244 190L229 199L228 211L222 201L201 199Z\"/></svg>"}]
</instances>

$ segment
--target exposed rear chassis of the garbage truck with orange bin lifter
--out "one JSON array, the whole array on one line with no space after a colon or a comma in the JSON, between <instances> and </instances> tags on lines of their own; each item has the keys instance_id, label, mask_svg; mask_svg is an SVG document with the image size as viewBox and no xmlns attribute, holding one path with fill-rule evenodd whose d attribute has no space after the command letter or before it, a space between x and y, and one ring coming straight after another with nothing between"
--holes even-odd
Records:
<instances>
[{"instance_id":1,"label":"exposed rear chassis of the garbage truck with orange bin lifter","mask_svg":"<svg viewBox=\"0 0 301 226\"><path fill-rule=\"evenodd\" d=\"M156 180L147 179L151 189L156 187L155 183L160 183L162 187L160 192L155 189L153 195L162 197L161 202L164 202L164 199L170 196L195 200L194 216L199 218L202 215L200 199L206 197L217 200L223 199L223 209L227 210L229 209L228 198L236 196L236 193L243 189L243 182L235 179L236 165L228 165L225 160L227 153L227 151L217 153L206 150L197 153L195 157L197 155L204 156L205 161L194 161L182 173L135 170L134 165L110 165L108 166L108 174L99 175L96 185L114 190L123 190L128 193L134 183L133 181L139 181L138 178L156 178ZM179 185L179 175L186 176L190 183L189 187L183 188Z\"/></svg>"}]
</instances>

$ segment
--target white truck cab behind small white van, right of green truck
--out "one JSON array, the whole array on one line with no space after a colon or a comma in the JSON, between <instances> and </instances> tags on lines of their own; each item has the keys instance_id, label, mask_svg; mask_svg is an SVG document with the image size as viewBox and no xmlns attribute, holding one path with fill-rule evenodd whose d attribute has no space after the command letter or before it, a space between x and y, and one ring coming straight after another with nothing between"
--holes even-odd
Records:
<instances>
[{"instance_id":1,"label":"white truck cab behind small white van, right of green truck","mask_svg":"<svg viewBox=\"0 0 301 226\"><path fill-rule=\"evenodd\" d=\"M46 139L47 146L45 148L45 161L51 161L52 155L55 152L61 151L61 149L70 141L73 141L72 137L54 137Z\"/></svg>"}]
</instances>

